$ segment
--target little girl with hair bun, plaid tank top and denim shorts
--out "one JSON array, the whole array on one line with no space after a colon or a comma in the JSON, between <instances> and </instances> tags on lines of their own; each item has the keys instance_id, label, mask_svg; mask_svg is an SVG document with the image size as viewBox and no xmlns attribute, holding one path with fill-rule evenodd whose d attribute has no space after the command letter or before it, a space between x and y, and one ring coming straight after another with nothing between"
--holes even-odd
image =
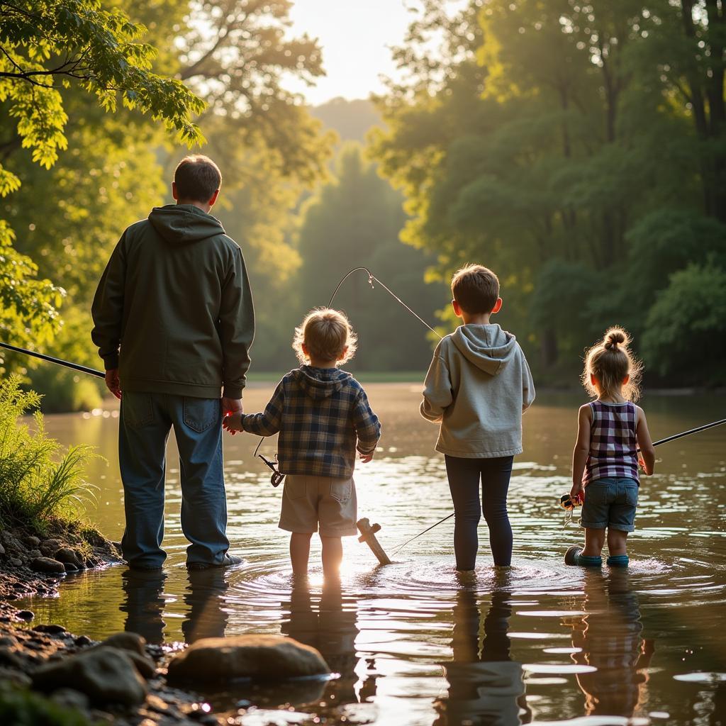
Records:
<instances>
[{"instance_id":1,"label":"little girl with hair bun, plaid tank top and denim shorts","mask_svg":"<svg viewBox=\"0 0 726 726\"><path fill-rule=\"evenodd\" d=\"M595 400L580 407L572 456L571 497L583 497L584 547L570 547L568 565L600 567L608 540L608 566L627 567L627 536L635 529L638 465L650 476L656 452L640 397L643 364L629 349L629 335L611 327L585 356L582 383ZM637 457L640 449L640 459Z\"/></svg>"}]
</instances>

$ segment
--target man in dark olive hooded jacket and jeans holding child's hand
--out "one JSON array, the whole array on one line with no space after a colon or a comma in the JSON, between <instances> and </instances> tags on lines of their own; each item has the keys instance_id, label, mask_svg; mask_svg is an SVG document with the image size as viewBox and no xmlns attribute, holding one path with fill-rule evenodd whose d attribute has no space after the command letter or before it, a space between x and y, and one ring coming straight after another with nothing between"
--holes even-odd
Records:
<instances>
[{"instance_id":1,"label":"man in dark olive hooded jacket and jeans holding child's hand","mask_svg":"<svg viewBox=\"0 0 726 726\"><path fill-rule=\"evenodd\" d=\"M242 250L209 214L220 184L211 159L182 159L171 187L176 205L155 207L123 232L93 302L91 338L106 385L121 399L121 550L133 568L158 569L166 559L161 542L172 427L181 529L191 543L187 567L241 562L227 553L221 421L224 412L242 410L255 324Z\"/></svg>"}]
</instances>

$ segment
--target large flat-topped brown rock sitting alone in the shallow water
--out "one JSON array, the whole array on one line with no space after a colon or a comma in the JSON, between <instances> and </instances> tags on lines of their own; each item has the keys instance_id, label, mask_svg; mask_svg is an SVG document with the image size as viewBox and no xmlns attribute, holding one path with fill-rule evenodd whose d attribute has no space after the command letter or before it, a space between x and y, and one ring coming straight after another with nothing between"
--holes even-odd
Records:
<instances>
[{"instance_id":1,"label":"large flat-topped brown rock sitting alone in the shallow water","mask_svg":"<svg viewBox=\"0 0 726 726\"><path fill-rule=\"evenodd\" d=\"M237 635L197 640L169 663L168 681L280 680L330 673L315 649L282 635Z\"/></svg>"}]
</instances>

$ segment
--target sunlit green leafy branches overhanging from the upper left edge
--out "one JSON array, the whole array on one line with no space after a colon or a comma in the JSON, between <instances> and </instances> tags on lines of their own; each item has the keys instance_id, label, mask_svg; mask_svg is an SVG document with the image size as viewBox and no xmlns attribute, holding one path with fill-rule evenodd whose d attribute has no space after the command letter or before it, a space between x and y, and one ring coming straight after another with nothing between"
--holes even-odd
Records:
<instances>
[{"instance_id":1,"label":"sunlit green leafy branches overhanging from the upper left edge","mask_svg":"<svg viewBox=\"0 0 726 726\"><path fill-rule=\"evenodd\" d=\"M183 83L150 70L155 49L136 41L144 28L98 0L17 0L0 2L0 196L20 188L7 168L12 152L31 150L46 169L68 148L64 94L75 86L106 111L136 108L175 129L189 144L203 139L192 115L204 103ZM11 131L15 125L15 131ZM41 342L57 330L56 307L64 290L36 280L37 266L12 249L15 233L1 221L0 320L16 342Z\"/></svg>"}]
</instances>

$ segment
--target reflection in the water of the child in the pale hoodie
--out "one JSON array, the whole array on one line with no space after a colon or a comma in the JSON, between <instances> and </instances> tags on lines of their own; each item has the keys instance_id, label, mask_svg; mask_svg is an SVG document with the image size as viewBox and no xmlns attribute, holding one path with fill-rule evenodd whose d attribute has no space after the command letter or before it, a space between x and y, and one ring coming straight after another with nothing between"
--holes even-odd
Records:
<instances>
[{"instance_id":1,"label":"reflection in the water of the child in the pale hoodie","mask_svg":"<svg viewBox=\"0 0 726 726\"><path fill-rule=\"evenodd\" d=\"M522 665L510 656L511 597L508 590L492 592L482 622L476 591L457 592L452 611L453 662L444 664L449 693L434 703L436 726L519 726L531 721Z\"/></svg>"}]
</instances>

